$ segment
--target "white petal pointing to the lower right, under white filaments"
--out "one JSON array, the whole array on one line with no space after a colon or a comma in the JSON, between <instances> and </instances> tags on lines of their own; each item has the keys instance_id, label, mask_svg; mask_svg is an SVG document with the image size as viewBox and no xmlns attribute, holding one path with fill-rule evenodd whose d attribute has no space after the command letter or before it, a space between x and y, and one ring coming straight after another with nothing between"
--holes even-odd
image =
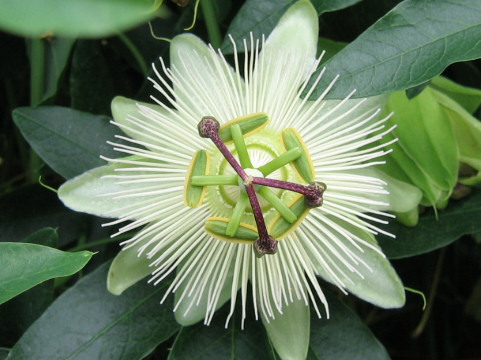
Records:
<instances>
[{"instance_id":1,"label":"white petal pointing to the lower right, under white filaments","mask_svg":"<svg viewBox=\"0 0 481 360\"><path fill-rule=\"evenodd\" d=\"M318 252L308 252L317 263L316 270L325 280L383 308L404 305L401 280L382 254L374 236L350 223L321 216L324 221L315 228L304 222L301 227L309 235L306 246L314 242ZM315 260L314 258L317 258Z\"/></svg>"}]
</instances>

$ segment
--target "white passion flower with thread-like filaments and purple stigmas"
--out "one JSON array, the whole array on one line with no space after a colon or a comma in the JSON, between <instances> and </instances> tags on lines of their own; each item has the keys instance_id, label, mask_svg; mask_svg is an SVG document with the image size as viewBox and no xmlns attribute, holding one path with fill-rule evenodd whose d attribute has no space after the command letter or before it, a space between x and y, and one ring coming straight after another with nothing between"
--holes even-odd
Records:
<instances>
[{"instance_id":1,"label":"white passion flower with thread-like filaments and purple stigmas","mask_svg":"<svg viewBox=\"0 0 481 360\"><path fill-rule=\"evenodd\" d=\"M404 304L374 239L391 208L372 168L389 144L372 144L391 129L379 98L324 100L332 83L308 100L322 80L307 87L321 60L317 38L307 0L267 40L245 41L243 55L234 45L233 67L179 35L170 69L161 60L150 79L156 105L113 101L114 124L128 136L112 145L124 157L59 190L75 210L117 218L116 235L138 231L112 264L112 292L175 273L165 297L175 293L181 324L209 324L229 299L230 318L239 297L242 323L252 302L270 335L289 317L308 334L309 307L329 316L317 276L381 307Z\"/></svg>"}]
</instances>

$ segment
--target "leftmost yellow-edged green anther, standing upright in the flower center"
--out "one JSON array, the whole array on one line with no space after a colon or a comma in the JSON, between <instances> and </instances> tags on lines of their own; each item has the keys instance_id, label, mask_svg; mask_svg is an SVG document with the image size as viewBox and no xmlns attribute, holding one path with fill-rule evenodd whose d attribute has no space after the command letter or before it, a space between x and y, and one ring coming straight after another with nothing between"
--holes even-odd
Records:
<instances>
[{"instance_id":1,"label":"leftmost yellow-edged green anther, standing upright in the flower center","mask_svg":"<svg viewBox=\"0 0 481 360\"><path fill-rule=\"evenodd\" d=\"M204 175L209 169L209 155L204 150L197 151L189 164L184 183L184 203L190 207L202 204L205 195L205 187L192 184L192 178Z\"/></svg>"}]
</instances>

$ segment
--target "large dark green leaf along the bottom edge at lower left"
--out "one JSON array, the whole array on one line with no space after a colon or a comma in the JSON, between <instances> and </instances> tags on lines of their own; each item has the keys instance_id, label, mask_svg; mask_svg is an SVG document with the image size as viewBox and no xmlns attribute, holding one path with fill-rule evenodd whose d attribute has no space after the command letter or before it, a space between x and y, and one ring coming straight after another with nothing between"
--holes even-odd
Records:
<instances>
[{"instance_id":1,"label":"large dark green leaf along the bottom edge at lower left","mask_svg":"<svg viewBox=\"0 0 481 360\"><path fill-rule=\"evenodd\" d=\"M63 293L15 344L8 360L140 360L170 338L179 328L172 302L159 304L169 281L155 288L141 282L117 297L105 288L108 266Z\"/></svg>"}]
</instances>

